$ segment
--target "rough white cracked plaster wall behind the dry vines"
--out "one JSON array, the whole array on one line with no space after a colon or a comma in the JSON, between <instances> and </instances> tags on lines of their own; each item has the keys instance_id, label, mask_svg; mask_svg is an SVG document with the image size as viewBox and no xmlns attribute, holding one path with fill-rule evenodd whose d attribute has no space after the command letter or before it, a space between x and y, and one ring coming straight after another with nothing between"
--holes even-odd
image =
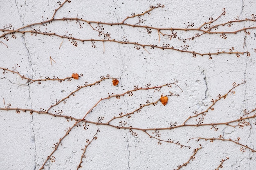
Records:
<instances>
[{"instance_id":1,"label":"rough white cracked plaster wall behind the dry vines","mask_svg":"<svg viewBox=\"0 0 256 170\"><path fill-rule=\"evenodd\" d=\"M0 27L11 24L14 29L27 24L42 22L51 18L54 9L58 7L58 1L28 1L28 0L0 0ZM186 28L184 23L193 22L194 27L208 22L210 17L217 18L225 8L225 17L217 23L240 18L250 18L255 13L254 0L212 0L212 1L180 1L180 0L104 0L104 1L79 1L72 0L66 3L55 15L55 18L77 17L90 21L121 22L128 15L141 13L149 9L150 5L164 4L164 8L151 11L151 15L143 17L146 20L141 25L161 28L174 27ZM42 16L44 18L42 18ZM127 23L135 24L137 18L131 18ZM81 39L97 39L98 33L93 31L88 24L79 28L79 24L73 22L56 21L41 26L41 31L68 35ZM96 26L96 25L94 25ZM255 22L237 23L231 30L243 27L255 26ZM157 31L150 35L146 29L132 28L128 26L104 26L105 32L111 33L112 39L139 42L142 44L158 44ZM35 27L38 29L38 26ZM219 31L227 29L219 28ZM68 31L68 33L66 33ZM243 115L243 110L252 110L256 107L256 29L249 30L250 35L238 32L228 35L227 39L220 38L219 34L202 35L193 41L188 41L189 51L201 53L213 53L217 50L228 51L234 47L234 51L249 51L251 56L241 55L239 58L232 54L212 56L197 56L172 50L134 48L132 44L118 44L96 42L96 48L92 48L91 42L77 42L73 46L67 39L56 36L32 35L30 33L16 33L16 39L9 41L0 38L0 67L11 69L14 64L20 74L32 79L40 79L45 76L64 78L72 73L82 73L79 80L62 83L54 81L37 84L27 83L17 74L7 73L0 75L0 108L11 104L13 108L28 108L40 110L49 108L56 99L66 97L76 90L78 85L84 82L93 83L102 75L110 74L119 79L118 86L112 86L111 80L105 80L98 86L81 89L76 96L67 99L67 103L61 103L50 110L63 110L63 115L82 118L85 113L101 98L108 97L108 93L124 93L134 89L134 86L144 87L159 86L179 80L181 88L162 88L161 91L137 91L133 96L128 95L121 99L109 99L97 106L86 118L97 121L100 116L104 121L118 116L120 112L129 113L145 104L147 100L153 102L161 96L172 91L179 97L169 97L166 106L160 102L156 106L148 106L135 113L130 118L123 117L127 121L126 126L137 128L164 128L170 126L170 121L182 124L194 110L201 112L208 108L211 99L218 94L225 94L231 89L234 82L245 84L238 86L234 95L216 103L214 110L204 118L204 123L226 122L238 119ZM180 36L189 37L185 31L178 31ZM2 32L1 32L2 34ZM191 35L191 34L190 34ZM10 36L9 36L10 37ZM125 38L124 38L125 37ZM102 38L101 38L102 39ZM60 47L60 44L61 48ZM177 38L168 40L161 38L160 43L171 44L179 48L184 45ZM56 63L51 65L49 56ZM4 105L4 102L5 105ZM112 124L118 126L119 121ZM129 130L117 129L109 126L90 124L88 130L75 127L61 142L58 150L53 154L54 162L48 161L47 170L74 170L81 159L81 148L85 146L86 139L92 139L97 131L97 140L94 140L87 148L87 157L83 159L81 169L90 170L166 170L175 169L182 165L193 154L193 149L199 148L195 160L182 169L214 170L220 164L221 159L229 157L223 163L223 170L255 170L255 152L246 149L240 152L240 146L230 141L195 141L192 137L218 138L223 135L225 139L237 139L240 143L255 149L256 126L255 118L249 119L251 126L233 128L230 126L218 126L219 130L210 129L211 126L182 127L174 130L162 130L161 139L180 141L181 144L191 146L180 148L176 144L162 142L148 137L143 131L136 131L137 136L132 136ZM189 120L190 124L196 124L195 119ZM66 128L71 127L74 121L61 117L53 117L45 114L22 112L17 114L13 110L0 110L0 169L1 170L38 170L47 156L53 150L53 144L65 135ZM152 131L151 131L152 133Z\"/></svg>"}]
</instances>

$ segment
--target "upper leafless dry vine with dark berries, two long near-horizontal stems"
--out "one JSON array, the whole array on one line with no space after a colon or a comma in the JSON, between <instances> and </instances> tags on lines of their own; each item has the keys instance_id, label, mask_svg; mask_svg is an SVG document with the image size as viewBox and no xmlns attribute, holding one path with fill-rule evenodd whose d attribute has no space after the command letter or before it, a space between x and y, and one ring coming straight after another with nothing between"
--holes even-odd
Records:
<instances>
[{"instance_id":1,"label":"upper leafless dry vine with dark berries, two long near-horizontal stems","mask_svg":"<svg viewBox=\"0 0 256 170\"><path fill-rule=\"evenodd\" d=\"M96 47L96 45L94 44L95 42L103 42L103 51L105 51L105 45L104 42L116 42L119 44L133 44L134 48L139 50L141 49L141 47L146 50L148 52L148 50L146 49L146 47L149 47L150 49L169 49L169 50L174 50L174 51L180 51L183 53L191 53L193 54L193 57L196 57L196 55L209 55L209 58L212 58L212 55L219 55L219 54L236 54L237 57L240 57L240 55L244 55L247 54L247 57L249 57L251 55L251 53L249 51L234 51L234 47L231 47L228 51L216 51L215 53L202 53L202 52L198 52L198 51L189 51L189 45L183 45L181 47L174 47L171 46L170 44L166 44L163 43L163 45L154 45L154 44L142 44L139 42L130 42L129 40L117 40L117 38L112 38L111 37L111 33L110 32L106 32L104 31L104 25L108 25L108 26L128 26L128 27L132 27L132 28L142 28L142 29L146 29L148 34L151 34L153 30L157 31L158 33L158 44L160 42L161 36L164 38L167 38L169 40L172 40L174 38L177 38L177 40L180 40L184 43L186 43L187 40L194 40L195 38L200 37L201 35L204 34L219 34L221 38L227 39L227 34L236 34L238 32L244 32L245 35L250 35L250 32L248 30L251 29L256 29L256 26L248 26L242 29L236 29L235 31L215 31L216 29L218 29L220 26L224 27L227 26L228 28L231 27L231 25L241 22L241 23L245 23L245 22L252 22L255 23L256 22L256 17L255 14L252 14L251 18L245 18L243 20L238 18L235 18L233 21L227 21L221 24L214 24L219 18L221 18L222 16L225 16L226 11L225 8L222 9L222 13L216 18L213 19L212 17L209 18L209 22L204 22L201 26L199 26L198 28L193 28L194 24L189 23L189 25L186 26L186 28L157 28L157 27L153 27L153 26L147 26L147 25L142 25L142 23L144 22L143 19L141 19L141 17L143 15L150 15L150 11L153 11L157 8L164 8L164 5L161 4L157 4L156 6L151 5L150 8L148 10L146 10L143 13L139 13L139 14L135 14L132 13L131 16L127 16L122 22L117 22L117 23L108 23L108 22L101 22L101 21L90 21L90 20L84 20L82 18L54 18L56 12L63 7L63 5L66 2L71 2L70 0L65 0L63 3L59 3L60 6L55 9L54 14L52 16L52 18L47 18L47 20L43 20L42 22L36 22L36 23L31 23L28 24L26 26L22 26L18 29L14 29L13 26L11 24L7 24L6 26L4 26L3 29L0 29L0 31L2 31L2 35L0 35L0 38L4 38L4 40L8 41L9 40L9 36L11 35L12 38L16 38L15 33L30 33L31 35L47 35L47 36L57 36L59 38L62 39L67 39L69 41L71 41L71 43L74 46L77 46L77 41L80 42L92 42L92 47ZM135 18L137 17L139 19L139 22L135 23L135 24L128 24L126 23L129 19L131 18ZM44 17L43 17L44 19ZM103 37L103 39L95 39L95 38L91 38L91 39L81 39L81 38L76 38L74 37L72 34L66 35L61 35L58 34L54 31L48 31L47 28L45 29L45 31L40 31L41 26L49 26L49 24L52 24L55 21L66 21L66 22L75 22L76 24L78 23L80 26L80 29L83 28L84 24L87 24L93 31L96 31L99 33L99 37ZM167 31L165 33L163 33L163 31ZM177 32L175 31L193 31L196 32L194 33L194 35L190 38L182 38L182 37L178 37ZM8 36L9 35L9 36ZM62 43L61 43L62 44ZM5 44L6 45L6 44ZM6 45L7 46L7 45ZM7 46L8 47L8 46ZM149 52L148 52L149 53Z\"/></svg>"}]
</instances>

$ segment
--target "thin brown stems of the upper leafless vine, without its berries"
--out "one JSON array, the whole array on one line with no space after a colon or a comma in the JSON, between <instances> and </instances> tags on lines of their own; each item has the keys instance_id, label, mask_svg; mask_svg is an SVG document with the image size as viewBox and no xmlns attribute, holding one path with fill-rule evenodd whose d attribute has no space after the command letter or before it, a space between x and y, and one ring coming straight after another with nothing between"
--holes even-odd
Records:
<instances>
[{"instance_id":1,"label":"thin brown stems of the upper leafless vine, without its berries","mask_svg":"<svg viewBox=\"0 0 256 170\"><path fill-rule=\"evenodd\" d=\"M63 2L63 4L65 4L65 2L70 2L69 0L65 0ZM56 14L56 11L58 11L58 9L60 9L63 4L60 5L60 7L58 7L57 9L55 9L55 12L54 12L54 15ZM249 52L246 51L246 52L232 52L232 51L229 51L229 52L225 52L225 51L222 51L222 52L217 52L217 53L199 53L199 52L195 52L195 51L186 51L186 50L180 50L180 49L175 49L173 47L167 47L167 46L156 46L156 45L153 45L153 44L140 44L138 42L122 42L122 41L118 41L118 40L115 40L115 39L110 39L110 34L108 33L103 33L103 31L100 31L98 29L95 29L91 24L94 23L94 24L97 24L99 26L99 24L104 24L104 25L124 25L124 26L132 26L132 27L140 27L140 28L145 28L145 29L153 29L153 30L156 30L157 33L158 33L158 36L159 36L159 41L160 41L160 35L159 33L161 33L163 36L165 35L168 35L168 34L164 34L162 33L161 31L162 30L169 30L169 31L174 31L174 30L180 30L180 31L201 31L203 32L202 34L204 33L209 33L209 34L221 34L221 35L225 35L225 34L236 34L240 31L246 31L246 30L249 30L249 29L256 29L255 26L250 26L250 27L246 27L246 28L243 28L243 29L238 29L236 31L211 31L212 29L216 29L218 28L218 26L225 26L227 24L231 24L233 22L245 22L245 21L252 21L252 22L255 22L255 18L253 19L244 19L244 20L234 20L234 21L229 21L229 22L225 22L225 23L222 23L222 24L216 24L214 26L211 26L209 27L207 30L203 30L202 29L202 26L206 25L206 24L210 24L210 23L213 23L215 22L216 20L218 20L218 18L220 18L222 15L224 15L225 11L218 16L218 18L216 18L215 20L212 20L210 22L204 22L204 24L202 24L201 26L199 26L198 28L157 28L157 27L153 27L153 26L144 26L144 25L136 25L136 24L127 24L127 23L124 23L124 21L126 21L127 19L129 18L134 18L136 16L141 16L141 15L144 15L146 13L149 14L150 11L152 11L153 9L156 9L158 7L163 7L161 6L160 4L157 4L158 6L154 7L154 6L150 6L150 9L143 12L143 13L140 13L140 14L137 14L137 15L132 15L132 16L128 16L126 19L123 20L123 22L118 22L118 23L108 23L108 22L99 22L99 21L88 21L88 20L83 20L82 18L54 18L54 15L52 17L52 19L49 19L49 20L46 20L46 21L43 21L43 22L37 22L37 23L34 23L34 24L28 24L27 26L22 26L18 29L15 29L15 30L11 30L11 29L0 29L0 31L2 32L5 32L7 31L7 33L3 33L2 35L0 35L0 38L1 37L4 37L6 38L5 36L8 35L8 34L13 34L13 33L35 33L35 34L42 34L42 35L49 35L49 36L58 36L60 38L67 38L69 40L78 40L78 41L81 41L81 42L85 42L85 41L101 41L101 42L106 42L106 41L109 41L109 42L117 42L117 43L121 43L121 44L134 44L135 46L141 46L142 48L145 49L146 46L150 47L150 48L159 48L159 49L171 49L171 50L175 50L175 51L180 51L180 52L186 52L186 53L192 53L193 56L198 54L198 55L218 55L218 54L222 54L222 53L226 53L226 54L244 54L244 53L247 53L247 56L249 56ZM92 29L94 31L98 31L99 33L103 34L105 37L103 40L95 40L95 39L79 39L79 38L74 38L74 37L67 37L65 35L57 35L56 33L47 33L47 32L40 32L40 31L36 31L36 30L24 30L25 28L31 28L31 26L34 26L34 25L43 25L43 24L46 24L46 23L51 23L53 21L58 21L58 20L62 20L62 21L67 21L67 20L70 20L70 21L81 21L81 22L86 22L88 23L88 25L90 25L92 27ZM22 29L24 31L22 31ZM31 28L32 29L32 28ZM200 35L202 35L200 34ZM193 36L192 38L195 38L195 37L199 37L200 35L196 35L196 36ZM175 36L176 37L176 36ZM108 38L108 40L106 40L106 38ZM187 38L187 39L192 39L192 38ZM6 38L7 39L7 38ZM180 40L187 40L187 39L180 39ZM104 45L104 44L103 44ZM105 46L103 47L105 51ZM146 50L146 49L145 49ZM146 50L147 51L147 50ZM148 51L147 51L148 52ZM149 52L148 52L149 53Z\"/></svg>"}]
</instances>

